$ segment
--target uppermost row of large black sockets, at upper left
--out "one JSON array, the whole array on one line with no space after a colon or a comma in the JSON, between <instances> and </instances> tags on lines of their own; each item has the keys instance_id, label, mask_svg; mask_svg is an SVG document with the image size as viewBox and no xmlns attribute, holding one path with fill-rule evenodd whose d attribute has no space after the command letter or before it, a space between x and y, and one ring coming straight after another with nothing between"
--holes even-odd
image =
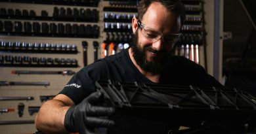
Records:
<instances>
[{"instance_id":1,"label":"uppermost row of large black sockets, at upper left","mask_svg":"<svg viewBox=\"0 0 256 134\"><path fill-rule=\"evenodd\" d=\"M69 22L98 22L98 10L90 8L64 8L54 7L53 16L49 16L46 10L41 10L41 16L36 16L34 10L30 12L26 9L0 8L0 17L7 19L23 19L23 20L56 20Z\"/></svg>"}]
</instances>

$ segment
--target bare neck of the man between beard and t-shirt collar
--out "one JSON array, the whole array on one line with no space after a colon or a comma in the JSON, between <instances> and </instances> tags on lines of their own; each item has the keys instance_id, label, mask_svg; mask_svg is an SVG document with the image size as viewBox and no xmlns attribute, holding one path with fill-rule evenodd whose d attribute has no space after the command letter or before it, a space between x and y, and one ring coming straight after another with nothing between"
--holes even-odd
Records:
<instances>
[{"instance_id":1,"label":"bare neck of the man between beard and t-shirt collar","mask_svg":"<svg viewBox=\"0 0 256 134\"><path fill-rule=\"evenodd\" d=\"M149 80L151 80L152 82L158 83L159 79L160 79L160 74L154 74L148 71L144 71L135 61L135 58L133 57L133 52L131 50L132 48L129 48L129 56L131 58L131 61L133 62L133 64L135 65L135 67L137 67L137 69L140 71L140 73L142 73L142 75L146 76L146 78L148 78Z\"/></svg>"}]
</instances>

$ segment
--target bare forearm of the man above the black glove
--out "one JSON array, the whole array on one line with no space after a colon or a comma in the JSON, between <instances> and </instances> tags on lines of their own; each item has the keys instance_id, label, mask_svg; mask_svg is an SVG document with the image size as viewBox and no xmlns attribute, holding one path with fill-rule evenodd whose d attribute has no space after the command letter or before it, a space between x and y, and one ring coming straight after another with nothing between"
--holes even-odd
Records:
<instances>
[{"instance_id":1,"label":"bare forearm of the man above the black glove","mask_svg":"<svg viewBox=\"0 0 256 134\"><path fill-rule=\"evenodd\" d=\"M53 99L45 102L35 117L35 127L43 133L64 133L64 118L70 106Z\"/></svg>"}]
</instances>

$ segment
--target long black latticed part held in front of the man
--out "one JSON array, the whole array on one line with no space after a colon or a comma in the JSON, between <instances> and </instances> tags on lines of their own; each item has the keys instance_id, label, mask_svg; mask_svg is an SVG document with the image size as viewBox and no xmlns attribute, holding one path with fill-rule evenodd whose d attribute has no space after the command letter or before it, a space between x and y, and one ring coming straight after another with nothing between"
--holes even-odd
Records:
<instances>
[{"instance_id":1,"label":"long black latticed part held in front of the man","mask_svg":"<svg viewBox=\"0 0 256 134\"><path fill-rule=\"evenodd\" d=\"M256 127L256 98L243 90L112 80L95 85L120 114L219 133Z\"/></svg>"}]
</instances>

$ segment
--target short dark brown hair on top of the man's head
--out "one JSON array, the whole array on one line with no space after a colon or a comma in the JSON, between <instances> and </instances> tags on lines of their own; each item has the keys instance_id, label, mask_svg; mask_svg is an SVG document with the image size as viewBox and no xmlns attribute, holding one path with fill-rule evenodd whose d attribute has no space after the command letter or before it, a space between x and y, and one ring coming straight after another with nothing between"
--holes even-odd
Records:
<instances>
[{"instance_id":1,"label":"short dark brown hair on top of the man's head","mask_svg":"<svg viewBox=\"0 0 256 134\"><path fill-rule=\"evenodd\" d=\"M185 7L181 3L181 0L141 0L138 7L138 17L140 20L142 20L146 10L148 10L148 7L154 2L161 3L164 7L167 8L167 10L173 12L175 16L181 18L181 26L184 24L185 21Z\"/></svg>"}]
</instances>

